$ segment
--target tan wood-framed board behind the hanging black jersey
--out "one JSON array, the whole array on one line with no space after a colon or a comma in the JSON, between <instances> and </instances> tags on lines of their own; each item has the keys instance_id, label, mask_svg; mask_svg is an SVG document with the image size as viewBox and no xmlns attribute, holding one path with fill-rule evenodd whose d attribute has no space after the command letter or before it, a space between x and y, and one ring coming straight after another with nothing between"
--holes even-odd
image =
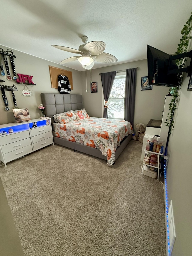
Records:
<instances>
[{"instance_id":1,"label":"tan wood-framed board behind the hanging black jersey","mask_svg":"<svg viewBox=\"0 0 192 256\"><path fill-rule=\"evenodd\" d=\"M73 90L73 79L72 79L71 71L49 66L49 72L50 72L50 77L51 77L52 88L58 89L58 75L64 74L66 77L68 77L70 85L71 85L71 90Z\"/></svg>"}]
</instances>

